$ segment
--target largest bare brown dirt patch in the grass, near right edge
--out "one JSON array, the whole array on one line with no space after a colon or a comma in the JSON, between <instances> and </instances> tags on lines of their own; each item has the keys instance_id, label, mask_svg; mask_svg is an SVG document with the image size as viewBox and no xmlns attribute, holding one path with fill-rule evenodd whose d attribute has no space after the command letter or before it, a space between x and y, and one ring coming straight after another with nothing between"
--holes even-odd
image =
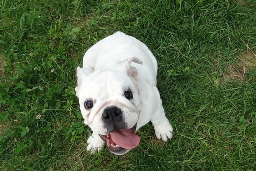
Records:
<instances>
[{"instance_id":1,"label":"largest bare brown dirt patch in the grass, near right edge","mask_svg":"<svg viewBox=\"0 0 256 171\"><path fill-rule=\"evenodd\" d=\"M246 51L239 57L238 65L230 65L223 74L225 81L245 80L246 73L256 66L256 55L252 51Z\"/></svg>"}]
</instances>

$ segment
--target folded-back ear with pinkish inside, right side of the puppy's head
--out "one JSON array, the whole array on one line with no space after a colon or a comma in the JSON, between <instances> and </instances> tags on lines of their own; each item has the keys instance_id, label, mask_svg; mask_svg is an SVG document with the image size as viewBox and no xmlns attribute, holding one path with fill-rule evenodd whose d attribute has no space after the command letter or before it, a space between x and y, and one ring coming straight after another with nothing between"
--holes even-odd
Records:
<instances>
[{"instance_id":1,"label":"folded-back ear with pinkish inside, right side of the puppy's head","mask_svg":"<svg viewBox=\"0 0 256 171\"><path fill-rule=\"evenodd\" d=\"M138 80L138 72L137 69L131 66L131 63L134 62L136 64L143 65L143 62L137 57L131 57L127 60L122 61L124 70L127 71L128 76L134 78L136 81Z\"/></svg>"}]
</instances>

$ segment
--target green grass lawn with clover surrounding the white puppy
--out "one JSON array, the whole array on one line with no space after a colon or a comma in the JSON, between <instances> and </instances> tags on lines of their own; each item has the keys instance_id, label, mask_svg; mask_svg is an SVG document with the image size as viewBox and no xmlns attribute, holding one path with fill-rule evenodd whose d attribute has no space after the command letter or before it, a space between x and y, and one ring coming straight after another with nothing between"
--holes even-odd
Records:
<instances>
[{"instance_id":1,"label":"green grass lawn with clover surrounding the white puppy","mask_svg":"<svg viewBox=\"0 0 256 171\"><path fill-rule=\"evenodd\" d=\"M116 31L157 58L175 133L89 155L76 67ZM255 171L255 54L255 0L1 0L0 170Z\"/></svg>"}]
</instances>

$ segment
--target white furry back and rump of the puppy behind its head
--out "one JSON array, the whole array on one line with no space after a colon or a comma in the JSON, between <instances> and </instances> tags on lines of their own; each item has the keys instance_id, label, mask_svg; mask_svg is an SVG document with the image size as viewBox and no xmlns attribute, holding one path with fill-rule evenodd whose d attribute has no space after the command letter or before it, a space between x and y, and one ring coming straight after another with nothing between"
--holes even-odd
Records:
<instances>
[{"instance_id":1,"label":"white furry back and rump of the puppy behind its head","mask_svg":"<svg viewBox=\"0 0 256 171\"><path fill-rule=\"evenodd\" d=\"M94 71L106 66L114 68L117 62L130 57L138 57L143 62L144 65L133 62L132 66L146 77L150 85L156 86L157 60L154 55L144 43L122 32L116 32L89 48L83 57L83 67Z\"/></svg>"}]
</instances>

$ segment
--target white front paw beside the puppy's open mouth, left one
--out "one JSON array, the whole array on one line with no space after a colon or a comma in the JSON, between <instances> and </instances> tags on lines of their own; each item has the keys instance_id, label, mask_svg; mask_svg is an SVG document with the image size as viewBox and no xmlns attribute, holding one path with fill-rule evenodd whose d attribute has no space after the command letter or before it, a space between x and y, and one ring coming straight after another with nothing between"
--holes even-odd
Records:
<instances>
[{"instance_id":1,"label":"white front paw beside the puppy's open mouth, left one","mask_svg":"<svg viewBox=\"0 0 256 171\"><path fill-rule=\"evenodd\" d=\"M91 151L91 154L98 153L99 150L102 150L105 142L99 137L98 134L92 133L92 135L87 140L87 151Z\"/></svg>"}]
</instances>

